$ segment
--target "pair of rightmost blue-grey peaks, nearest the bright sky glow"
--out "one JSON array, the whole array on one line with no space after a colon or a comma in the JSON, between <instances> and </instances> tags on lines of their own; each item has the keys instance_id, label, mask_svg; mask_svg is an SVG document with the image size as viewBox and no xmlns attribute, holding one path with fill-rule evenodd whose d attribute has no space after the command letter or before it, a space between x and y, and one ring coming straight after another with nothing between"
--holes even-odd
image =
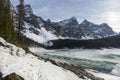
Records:
<instances>
[{"instance_id":1,"label":"pair of rightmost blue-grey peaks, nearest the bright sky glow","mask_svg":"<svg viewBox=\"0 0 120 80\"><path fill-rule=\"evenodd\" d=\"M87 20L84 20L81 24L79 24L78 29L81 30L84 37L89 38L103 38L115 34L108 24L103 23L98 25Z\"/></svg>"}]
</instances>

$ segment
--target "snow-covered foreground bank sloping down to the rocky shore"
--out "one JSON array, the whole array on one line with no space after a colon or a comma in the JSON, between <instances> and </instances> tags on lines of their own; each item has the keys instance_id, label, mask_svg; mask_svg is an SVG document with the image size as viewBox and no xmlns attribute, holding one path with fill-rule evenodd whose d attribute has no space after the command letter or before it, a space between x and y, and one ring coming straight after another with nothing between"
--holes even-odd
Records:
<instances>
[{"instance_id":1,"label":"snow-covered foreground bank sloping down to the rocky shore","mask_svg":"<svg viewBox=\"0 0 120 80\"><path fill-rule=\"evenodd\" d=\"M39 60L31 54L0 38L0 72L3 77L15 72L25 80L82 80L70 71L57 67L49 62ZM11 53L11 54L10 54Z\"/></svg>"}]
</instances>

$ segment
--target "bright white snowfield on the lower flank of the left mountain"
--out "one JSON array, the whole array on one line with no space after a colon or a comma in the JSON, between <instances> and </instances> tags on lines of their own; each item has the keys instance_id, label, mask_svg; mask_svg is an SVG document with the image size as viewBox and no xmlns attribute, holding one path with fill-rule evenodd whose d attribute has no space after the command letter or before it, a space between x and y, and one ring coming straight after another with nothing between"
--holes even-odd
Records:
<instances>
[{"instance_id":1,"label":"bright white snowfield on the lower flank of the left mountain","mask_svg":"<svg viewBox=\"0 0 120 80\"><path fill-rule=\"evenodd\" d=\"M28 23L25 23L25 30L24 35L38 43L45 43L49 40L58 39L57 36L54 34L48 32L45 28L41 27L41 29L35 28L34 26L29 25ZM38 34L34 33L33 31L30 31L30 28L34 29Z\"/></svg>"}]
</instances>

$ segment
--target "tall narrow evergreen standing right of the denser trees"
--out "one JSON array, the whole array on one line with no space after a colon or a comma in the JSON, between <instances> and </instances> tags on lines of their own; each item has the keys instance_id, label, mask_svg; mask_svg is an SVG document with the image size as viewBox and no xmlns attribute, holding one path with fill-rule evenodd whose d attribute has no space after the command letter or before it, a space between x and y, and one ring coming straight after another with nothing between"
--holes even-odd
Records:
<instances>
[{"instance_id":1,"label":"tall narrow evergreen standing right of the denser trees","mask_svg":"<svg viewBox=\"0 0 120 80\"><path fill-rule=\"evenodd\" d=\"M24 17L25 17L25 3L24 0L19 0L19 5L17 6L17 21L18 21L18 40L19 44L22 44L22 47L28 51L28 44L26 37L21 34L21 31L24 29Z\"/></svg>"}]
</instances>

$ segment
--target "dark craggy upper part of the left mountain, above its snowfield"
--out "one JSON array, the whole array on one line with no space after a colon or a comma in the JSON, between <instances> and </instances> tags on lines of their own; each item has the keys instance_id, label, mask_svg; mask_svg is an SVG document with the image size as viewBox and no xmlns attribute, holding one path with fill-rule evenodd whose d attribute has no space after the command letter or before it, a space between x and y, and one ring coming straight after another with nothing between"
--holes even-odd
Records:
<instances>
[{"instance_id":1,"label":"dark craggy upper part of the left mountain, above its snowfield","mask_svg":"<svg viewBox=\"0 0 120 80\"><path fill-rule=\"evenodd\" d=\"M44 22L43 18L41 18L40 16L35 15L31 5L25 4L24 0L22 1L22 3L20 2L20 4L18 4L16 6L16 13L17 14L15 14L15 16L14 16L15 25L18 24L20 6L22 7L21 14L23 14L23 15L22 15L21 19L24 22L24 24L23 24L24 29L28 28L28 26L32 27L32 28L41 29L41 26L43 25L43 22Z\"/></svg>"}]
</instances>

